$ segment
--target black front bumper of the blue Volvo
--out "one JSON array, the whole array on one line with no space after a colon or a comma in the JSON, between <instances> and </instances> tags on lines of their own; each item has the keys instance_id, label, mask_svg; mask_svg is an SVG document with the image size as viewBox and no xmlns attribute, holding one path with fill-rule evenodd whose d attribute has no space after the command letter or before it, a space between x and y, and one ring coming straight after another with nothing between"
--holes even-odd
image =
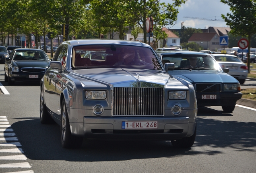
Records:
<instances>
[{"instance_id":1,"label":"black front bumper of the blue Volvo","mask_svg":"<svg viewBox=\"0 0 256 173\"><path fill-rule=\"evenodd\" d=\"M202 95L216 95L214 100L202 99ZM242 93L196 93L198 107L204 106L232 106L242 98Z\"/></svg>"}]
</instances>

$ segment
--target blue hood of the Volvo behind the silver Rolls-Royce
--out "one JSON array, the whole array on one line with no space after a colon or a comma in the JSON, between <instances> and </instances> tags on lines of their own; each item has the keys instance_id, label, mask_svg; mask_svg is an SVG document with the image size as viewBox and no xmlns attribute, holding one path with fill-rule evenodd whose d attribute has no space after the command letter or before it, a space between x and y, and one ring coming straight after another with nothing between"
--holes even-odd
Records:
<instances>
[{"instance_id":1,"label":"blue hood of the Volvo behind the silver Rolls-Royce","mask_svg":"<svg viewBox=\"0 0 256 173\"><path fill-rule=\"evenodd\" d=\"M235 78L223 71L217 70L173 70L168 71L173 76L180 77L191 83L198 82L238 82Z\"/></svg>"}]
</instances>

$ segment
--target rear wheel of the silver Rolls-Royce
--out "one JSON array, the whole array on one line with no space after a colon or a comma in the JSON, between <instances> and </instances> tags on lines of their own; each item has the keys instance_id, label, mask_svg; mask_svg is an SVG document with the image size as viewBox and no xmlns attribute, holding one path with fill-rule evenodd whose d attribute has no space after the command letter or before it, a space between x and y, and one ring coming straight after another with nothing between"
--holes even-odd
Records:
<instances>
[{"instance_id":1,"label":"rear wheel of the silver Rolls-Royce","mask_svg":"<svg viewBox=\"0 0 256 173\"><path fill-rule=\"evenodd\" d=\"M46 105L43 99L43 89L41 89L40 95L40 121L42 124L55 124L55 121L47 113Z\"/></svg>"}]
</instances>

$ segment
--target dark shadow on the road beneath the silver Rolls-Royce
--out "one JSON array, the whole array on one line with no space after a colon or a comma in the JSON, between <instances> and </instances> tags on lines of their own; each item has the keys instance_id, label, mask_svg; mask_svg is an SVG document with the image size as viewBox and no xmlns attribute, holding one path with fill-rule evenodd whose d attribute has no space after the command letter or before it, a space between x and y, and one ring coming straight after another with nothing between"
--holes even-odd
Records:
<instances>
[{"instance_id":1,"label":"dark shadow on the road beneath the silver Rolls-Royce","mask_svg":"<svg viewBox=\"0 0 256 173\"><path fill-rule=\"evenodd\" d=\"M220 148L250 151L248 147L256 147L256 123L202 118L198 118L197 122L197 136L193 147L211 146L211 151L193 150L193 147L175 148L170 141L107 140L84 140L80 149L63 149L60 143L60 126L57 124L42 125L39 119L27 118L12 124L12 129L24 154L32 160L122 161L177 155L216 155L222 153Z\"/></svg>"}]
</instances>

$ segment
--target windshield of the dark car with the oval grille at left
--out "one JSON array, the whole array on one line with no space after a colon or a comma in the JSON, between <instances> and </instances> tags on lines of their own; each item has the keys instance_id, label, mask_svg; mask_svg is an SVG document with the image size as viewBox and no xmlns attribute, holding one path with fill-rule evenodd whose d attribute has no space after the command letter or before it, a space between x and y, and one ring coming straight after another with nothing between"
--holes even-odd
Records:
<instances>
[{"instance_id":1,"label":"windshield of the dark car with the oval grille at left","mask_svg":"<svg viewBox=\"0 0 256 173\"><path fill-rule=\"evenodd\" d=\"M13 56L13 60L47 60L49 58L43 51L17 50Z\"/></svg>"}]
</instances>

